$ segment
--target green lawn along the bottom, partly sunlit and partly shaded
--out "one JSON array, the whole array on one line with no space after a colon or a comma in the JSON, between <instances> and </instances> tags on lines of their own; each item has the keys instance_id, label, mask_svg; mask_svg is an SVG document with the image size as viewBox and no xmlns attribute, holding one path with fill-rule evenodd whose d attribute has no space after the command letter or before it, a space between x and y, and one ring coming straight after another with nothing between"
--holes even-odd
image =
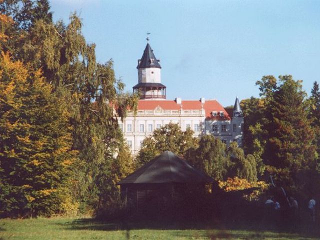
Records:
<instances>
[{"instance_id":1,"label":"green lawn along the bottom, partly sunlit and partly shaded","mask_svg":"<svg viewBox=\"0 0 320 240\"><path fill-rule=\"evenodd\" d=\"M164 229L125 226L116 222L100 222L93 219L75 218L32 218L0 219L0 240L7 239L319 239L297 233L225 230L217 228L175 227ZM131 229L130 229L131 228ZM174 229L176 228L176 229Z\"/></svg>"}]
</instances>

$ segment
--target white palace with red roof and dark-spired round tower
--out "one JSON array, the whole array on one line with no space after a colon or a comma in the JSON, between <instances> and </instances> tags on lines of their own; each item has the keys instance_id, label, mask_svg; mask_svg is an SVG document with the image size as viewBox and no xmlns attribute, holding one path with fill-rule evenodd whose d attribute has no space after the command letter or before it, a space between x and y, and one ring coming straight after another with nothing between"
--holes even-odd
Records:
<instances>
[{"instance_id":1,"label":"white palace with red roof and dark-spired round tower","mask_svg":"<svg viewBox=\"0 0 320 240\"><path fill-rule=\"evenodd\" d=\"M226 111L215 99L183 100L177 97L167 100L166 86L161 83L161 66L149 43L136 68L138 83L133 91L140 94L137 114L134 116L129 112L123 122L119 120L133 154L138 152L144 137L169 122L179 124L182 130L190 127L194 136L212 134L227 145L236 141L241 146L243 116L237 97L232 112Z\"/></svg>"}]
</instances>

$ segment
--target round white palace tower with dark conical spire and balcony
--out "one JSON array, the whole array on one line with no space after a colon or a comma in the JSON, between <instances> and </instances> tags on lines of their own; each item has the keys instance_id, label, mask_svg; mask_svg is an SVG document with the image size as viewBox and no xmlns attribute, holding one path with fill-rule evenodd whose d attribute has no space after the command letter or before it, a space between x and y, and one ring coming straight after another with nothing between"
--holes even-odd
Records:
<instances>
[{"instance_id":1,"label":"round white palace tower with dark conical spire and balcony","mask_svg":"<svg viewBox=\"0 0 320 240\"><path fill-rule=\"evenodd\" d=\"M140 99L165 99L166 86L161 84L161 66L153 54L149 43L146 44L141 59L138 59L138 84L133 92L139 92Z\"/></svg>"}]
</instances>

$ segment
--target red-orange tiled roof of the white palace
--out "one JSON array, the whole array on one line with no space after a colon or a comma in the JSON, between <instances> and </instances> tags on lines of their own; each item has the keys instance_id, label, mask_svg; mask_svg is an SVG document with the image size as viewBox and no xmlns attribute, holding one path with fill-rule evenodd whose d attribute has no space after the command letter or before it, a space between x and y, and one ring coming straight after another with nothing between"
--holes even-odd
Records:
<instances>
[{"instance_id":1,"label":"red-orange tiled roof of the white palace","mask_svg":"<svg viewBox=\"0 0 320 240\"><path fill-rule=\"evenodd\" d=\"M182 100L182 109L184 110L200 110L201 102L200 100ZM164 110L179 110L181 105L177 104L174 100L139 100L138 110L153 110L157 106L160 106ZM207 119L230 119L229 114L224 109L224 107L216 100L205 100L203 104L205 110L205 117ZM223 111L224 116L212 116L211 112Z\"/></svg>"}]
</instances>

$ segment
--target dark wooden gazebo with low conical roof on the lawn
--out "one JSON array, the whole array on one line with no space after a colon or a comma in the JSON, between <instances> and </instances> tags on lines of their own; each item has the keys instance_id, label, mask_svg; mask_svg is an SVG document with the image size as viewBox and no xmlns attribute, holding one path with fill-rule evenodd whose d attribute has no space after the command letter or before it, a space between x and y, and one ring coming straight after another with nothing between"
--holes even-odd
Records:
<instances>
[{"instance_id":1,"label":"dark wooden gazebo with low conical roof on the lawn","mask_svg":"<svg viewBox=\"0 0 320 240\"><path fill-rule=\"evenodd\" d=\"M205 184L213 181L173 152L164 151L118 184L125 205L144 211L165 209L186 191L204 191Z\"/></svg>"}]
</instances>

